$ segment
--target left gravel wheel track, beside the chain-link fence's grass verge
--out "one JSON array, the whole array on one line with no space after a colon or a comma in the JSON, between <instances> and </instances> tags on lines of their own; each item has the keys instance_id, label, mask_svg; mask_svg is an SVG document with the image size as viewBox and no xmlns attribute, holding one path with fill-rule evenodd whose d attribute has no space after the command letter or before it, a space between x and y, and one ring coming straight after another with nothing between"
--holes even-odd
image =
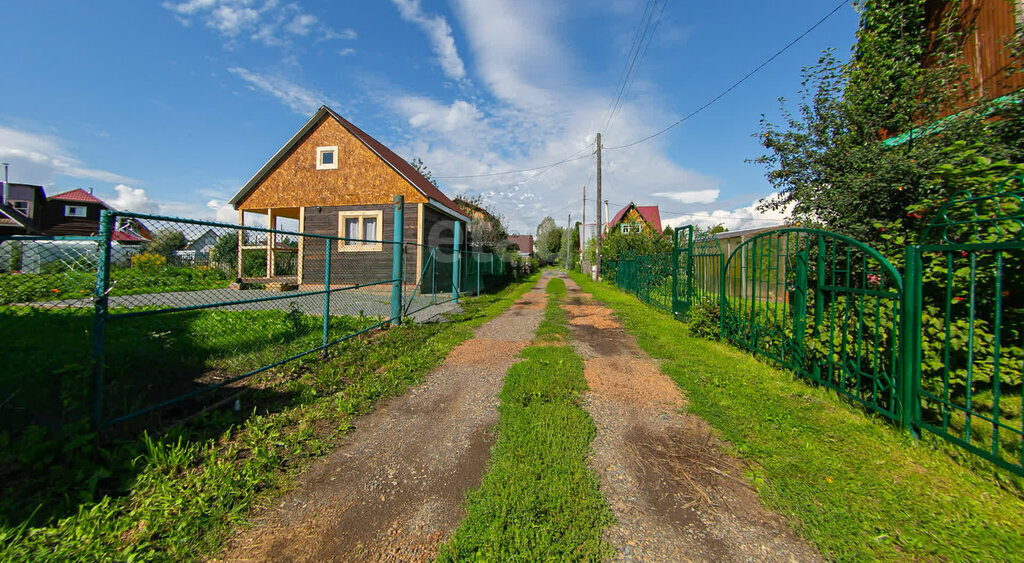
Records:
<instances>
[{"instance_id":1,"label":"left gravel wheel track, beside the chain-link fence's grass verge","mask_svg":"<svg viewBox=\"0 0 1024 563\"><path fill-rule=\"evenodd\" d=\"M540 324L548 276L424 383L356 420L345 445L233 537L228 561L427 561L479 484L498 392Z\"/></svg>"}]
</instances>

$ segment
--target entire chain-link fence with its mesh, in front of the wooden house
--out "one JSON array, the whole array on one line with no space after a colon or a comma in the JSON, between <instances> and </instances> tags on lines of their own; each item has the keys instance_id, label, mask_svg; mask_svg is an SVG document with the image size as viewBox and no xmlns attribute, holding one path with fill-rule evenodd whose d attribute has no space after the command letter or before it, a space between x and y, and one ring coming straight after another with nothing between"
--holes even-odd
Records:
<instances>
[{"instance_id":1,"label":"entire chain-link fence with its mesh, in front of the wooden house","mask_svg":"<svg viewBox=\"0 0 1024 563\"><path fill-rule=\"evenodd\" d=\"M391 230L362 240L104 211L95 236L0 237L0 342L18 351L0 375L0 421L186 416L210 402L201 395L513 275L502 257Z\"/></svg>"}]
</instances>

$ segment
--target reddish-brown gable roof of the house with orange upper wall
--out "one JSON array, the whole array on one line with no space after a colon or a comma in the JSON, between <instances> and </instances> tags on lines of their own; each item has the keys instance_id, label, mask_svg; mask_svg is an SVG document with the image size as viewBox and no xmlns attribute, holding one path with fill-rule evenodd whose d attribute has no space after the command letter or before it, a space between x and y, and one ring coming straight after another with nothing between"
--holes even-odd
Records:
<instances>
[{"instance_id":1,"label":"reddish-brown gable roof of the house with orange upper wall","mask_svg":"<svg viewBox=\"0 0 1024 563\"><path fill-rule=\"evenodd\" d=\"M285 145L282 146L281 149L278 150L278 153L270 158L265 165L263 165L263 168L260 168L259 171L256 172L256 174L242 186L242 189L239 189L239 192L236 193L234 197L228 201L228 203L238 208L238 205L242 202L242 200L246 199L253 191L253 189L256 188L259 182L262 181L271 170L273 170L274 166L278 165L278 162L281 161L281 159L283 159L293 146L301 141L306 133L308 133L313 126L319 123L325 116L337 121L339 125L344 127L346 131L351 133L353 137L358 139L359 142L366 145L367 148L377 155L428 200L432 200L439 206L446 208L449 212L455 213L460 219L465 219L465 215L462 210L459 209L459 206L455 205L455 202L442 193L437 186L430 183L430 180L413 168L413 165L406 162L406 159L395 155L394 151L385 146L382 142L371 137L365 131L349 123L348 120L339 116L334 110L331 110L327 105L321 105L321 109L317 110L311 118L309 118L309 121L307 121L306 124L299 129L298 133L293 135L292 138L289 139L288 142L286 142Z\"/></svg>"}]
</instances>

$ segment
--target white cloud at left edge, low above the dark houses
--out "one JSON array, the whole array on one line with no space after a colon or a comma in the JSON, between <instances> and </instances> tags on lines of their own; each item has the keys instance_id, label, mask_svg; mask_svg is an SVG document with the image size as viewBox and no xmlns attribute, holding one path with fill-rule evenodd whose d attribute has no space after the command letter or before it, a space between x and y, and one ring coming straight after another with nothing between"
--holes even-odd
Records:
<instances>
[{"instance_id":1,"label":"white cloud at left edge, low above the dark houses","mask_svg":"<svg viewBox=\"0 0 1024 563\"><path fill-rule=\"evenodd\" d=\"M132 183L136 180L76 158L56 137L0 127L0 161L10 163L11 181L51 185L58 175L81 180Z\"/></svg>"}]
</instances>

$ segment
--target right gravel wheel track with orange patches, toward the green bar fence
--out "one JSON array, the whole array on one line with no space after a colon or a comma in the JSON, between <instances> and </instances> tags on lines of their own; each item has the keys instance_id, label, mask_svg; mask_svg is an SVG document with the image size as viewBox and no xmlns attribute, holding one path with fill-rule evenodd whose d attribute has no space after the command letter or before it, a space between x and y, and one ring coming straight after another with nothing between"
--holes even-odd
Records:
<instances>
[{"instance_id":1,"label":"right gravel wheel track with orange patches, toward the green bar fence","mask_svg":"<svg viewBox=\"0 0 1024 563\"><path fill-rule=\"evenodd\" d=\"M611 310L570 279L563 308L597 425L592 465L625 561L815 561L821 557L761 506L701 419Z\"/></svg>"}]
</instances>

